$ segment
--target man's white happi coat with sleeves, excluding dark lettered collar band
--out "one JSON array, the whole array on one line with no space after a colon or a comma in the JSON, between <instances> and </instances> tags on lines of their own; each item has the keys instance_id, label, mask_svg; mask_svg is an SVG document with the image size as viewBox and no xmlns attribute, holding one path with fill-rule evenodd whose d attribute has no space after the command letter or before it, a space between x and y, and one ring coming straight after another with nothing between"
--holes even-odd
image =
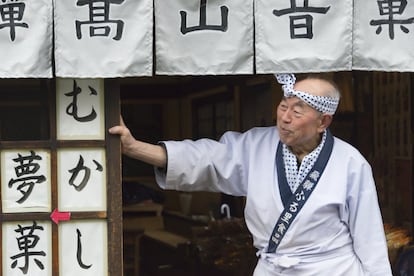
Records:
<instances>
[{"instance_id":1,"label":"man's white happi coat with sleeves, excluding dark lettered collar band","mask_svg":"<svg viewBox=\"0 0 414 276\"><path fill-rule=\"evenodd\" d=\"M335 138L315 190L276 253L266 253L283 211L276 170L276 127L227 132L219 142L164 142L162 188L246 196L245 219L260 255L255 274L392 275L371 167L351 145Z\"/></svg>"}]
</instances>

